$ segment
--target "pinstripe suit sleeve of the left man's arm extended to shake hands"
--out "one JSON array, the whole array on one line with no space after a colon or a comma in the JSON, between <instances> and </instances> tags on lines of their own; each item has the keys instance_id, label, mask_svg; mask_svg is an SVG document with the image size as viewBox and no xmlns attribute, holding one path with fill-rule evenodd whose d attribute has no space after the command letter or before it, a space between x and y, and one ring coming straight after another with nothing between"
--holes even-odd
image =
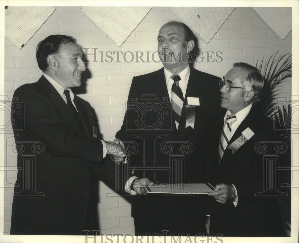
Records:
<instances>
[{"instance_id":1,"label":"pinstripe suit sleeve of the left man's arm extended to shake hands","mask_svg":"<svg viewBox=\"0 0 299 243\"><path fill-rule=\"evenodd\" d=\"M24 102L24 118L14 115L14 130L24 127L23 132L32 139L43 142L46 151L53 156L101 162L102 142L69 127L45 95L22 86L15 91L14 98ZM14 103L12 105L13 111L16 111Z\"/></svg>"}]
</instances>

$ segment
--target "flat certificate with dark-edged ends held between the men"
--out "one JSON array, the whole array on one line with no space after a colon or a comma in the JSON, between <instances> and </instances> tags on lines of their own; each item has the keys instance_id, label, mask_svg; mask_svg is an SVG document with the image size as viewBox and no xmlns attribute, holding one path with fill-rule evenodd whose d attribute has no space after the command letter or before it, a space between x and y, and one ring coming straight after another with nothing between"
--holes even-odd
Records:
<instances>
[{"instance_id":1,"label":"flat certificate with dark-edged ends held between the men","mask_svg":"<svg viewBox=\"0 0 299 243\"><path fill-rule=\"evenodd\" d=\"M182 184L155 184L145 186L147 193L170 194L208 194L214 187L210 183L182 183Z\"/></svg>"}]
</instances>

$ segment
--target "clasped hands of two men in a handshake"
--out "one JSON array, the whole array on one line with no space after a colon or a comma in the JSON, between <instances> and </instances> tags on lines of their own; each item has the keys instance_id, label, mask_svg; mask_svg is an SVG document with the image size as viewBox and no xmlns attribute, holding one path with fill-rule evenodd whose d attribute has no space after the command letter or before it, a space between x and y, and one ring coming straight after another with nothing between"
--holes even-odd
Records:
<instances>
[{"instance_id":1,"label":"clasped hands of two men in a handshake","mask_svg":"<svg viewBox=\"0 0 299 243\"><path fill-rule=\"evenodd\" d=\"M123 142L119 139L114 139L114 142L106 142L107 155L112 159L113 162L119 164L120 162L127 162L126 148Z\"/></svg>"}]
</instances>

